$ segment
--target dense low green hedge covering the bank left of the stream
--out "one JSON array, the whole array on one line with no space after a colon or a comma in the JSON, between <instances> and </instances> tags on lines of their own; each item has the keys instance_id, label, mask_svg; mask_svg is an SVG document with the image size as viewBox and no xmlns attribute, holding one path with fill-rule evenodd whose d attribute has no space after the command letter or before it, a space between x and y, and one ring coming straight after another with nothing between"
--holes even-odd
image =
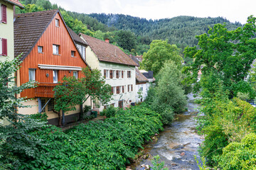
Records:
<instances>
[{"instance_id":1,"label":"dense low green hedge covering the bank left of the stream","mask_svg":"<svg viewBox=\"0 0 256 170\"><path fill-rule=\"evenodd\" d=\"M66 132L51 126L34 132L46 145L38 146L36 157L20 155L18 169L125 169L128 159L161 129L159 114L144 106Z\"/></svg>"}]
</instances>

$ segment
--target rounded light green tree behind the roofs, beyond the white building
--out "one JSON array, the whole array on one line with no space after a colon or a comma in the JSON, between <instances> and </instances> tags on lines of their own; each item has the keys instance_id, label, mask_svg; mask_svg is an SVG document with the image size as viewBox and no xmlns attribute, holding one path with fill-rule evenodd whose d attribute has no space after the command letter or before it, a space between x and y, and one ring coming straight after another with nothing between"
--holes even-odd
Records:
<instances>
[{"instance_id":1,"label":"rounded light green tree behind the roofs, beyond the white building","mask_svg":"<svg viewBox=\"0 0 256 170\"><path fill-rule=\"evenodd\" d=\"M157 74L165 62L172 60L177 65L181 65L182 57L176 45L170 45L167 40L153 40L149 51L144 53L142 67Z\"/></svg>"}]
</instances>

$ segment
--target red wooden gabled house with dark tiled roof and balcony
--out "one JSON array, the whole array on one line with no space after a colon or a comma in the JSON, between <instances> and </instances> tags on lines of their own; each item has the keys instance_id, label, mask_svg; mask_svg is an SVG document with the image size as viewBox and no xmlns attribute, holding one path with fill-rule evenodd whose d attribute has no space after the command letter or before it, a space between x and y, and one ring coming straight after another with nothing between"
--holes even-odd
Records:
<instances>
[{"instance_id":1,"label":"red wooden gabled house with dark tiled roof and balcony","mask_svg":"<svg viewBox=\"0 0 256 170\"><path fill-rule=\"evenodd\" d=\"M86 42L84 42L85 45ZM21 13L14 22L15 57L21 55L21 69L17 72L17 85L27 81L38 81L38 87L23 91L20 97L33 98L20 108L19 113L46 112L50 124L58 124L58 114L53 111L53 88L63 77L82 77L81 70L87 67L70 30L58 10ZM87 103L88 104L88 103ZM90 105L90 103L89 103ZM77 111L66 115L66 123L76 120Z\"/></svg>"}]
</instances>

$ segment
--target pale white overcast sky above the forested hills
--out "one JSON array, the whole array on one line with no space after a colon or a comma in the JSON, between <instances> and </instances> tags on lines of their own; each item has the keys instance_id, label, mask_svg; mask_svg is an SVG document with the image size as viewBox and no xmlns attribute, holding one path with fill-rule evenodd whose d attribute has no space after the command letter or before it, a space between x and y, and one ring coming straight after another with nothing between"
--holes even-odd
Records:
<instances>
[{"instance_id":1,"label":"pale white overcast sky above the forested hills","mask_svg":"<svg viewBox=\"0 0 256 170\"><path fill-rule=\"evenodd\" d=\"M256 0L50 0L67 11L122 13L146 19L175 16L217 17L246 23L256 16Z\"/></svg>"}]
</instances>

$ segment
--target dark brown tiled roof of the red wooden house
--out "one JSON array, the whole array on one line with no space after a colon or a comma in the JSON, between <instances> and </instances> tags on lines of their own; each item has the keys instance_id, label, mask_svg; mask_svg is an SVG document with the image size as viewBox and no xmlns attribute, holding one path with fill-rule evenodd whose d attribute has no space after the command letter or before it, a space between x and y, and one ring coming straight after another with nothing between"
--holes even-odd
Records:
<instances>
[{"instance_id":1,"label":"dark brown tiled roof of the red wooden house","mask_svg":"<svg viewBox=\"0 0 256 170\"><path fill-rule=\"evenodd\" d=\"M28 56L36 42L53 20L58 9L16 14L14 21L14 56L23 52L21 60Z\"/></svg>"}]
</instances>

